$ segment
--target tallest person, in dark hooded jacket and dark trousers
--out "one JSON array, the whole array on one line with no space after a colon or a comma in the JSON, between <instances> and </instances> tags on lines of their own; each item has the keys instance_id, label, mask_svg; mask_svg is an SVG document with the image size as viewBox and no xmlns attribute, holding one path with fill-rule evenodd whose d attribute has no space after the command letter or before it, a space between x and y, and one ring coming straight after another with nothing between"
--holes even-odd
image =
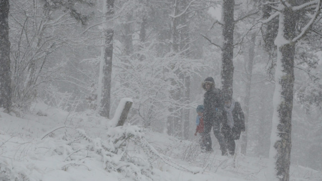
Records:
<instances>
[{"instance_id":1,"label":"tallest person, in dark hooded jacket and dark trousers","mask_svg":"<svg viewBox=\"0 0 322 181\"><path fill-rule=\"evenodd\" d=\"M220 133L220 125L223 113L223 98L220 89L215 88L213 77L207 77L202 83L202 87L206 90L204 94L204 134L206 151L212 150L212 139L210 136L213 127L215 137L217 138L221 154L226 154L224 136Z\"/></svg>"}]
</instances>

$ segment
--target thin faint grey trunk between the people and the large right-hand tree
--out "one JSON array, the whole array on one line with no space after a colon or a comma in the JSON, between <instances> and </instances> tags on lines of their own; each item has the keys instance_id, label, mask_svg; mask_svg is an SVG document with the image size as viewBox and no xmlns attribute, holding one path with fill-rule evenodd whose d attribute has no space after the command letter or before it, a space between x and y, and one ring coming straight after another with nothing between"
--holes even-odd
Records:
<instances>
[{"instance_id":1,"label":"thin faint grey trunk between the people and the large right-hand tree","mask_svg":"<svg viewBox=\"0 0 322 181\"><path fill-rule=\"evenodd\" d=\"M247 134L248 134L248 121L249 121L249 103L251 97L251 85L252 85L252 72L255 55L255 40L256 33L251 36L251 45L248 51L248 63L246 70L246 96L245 96L245 133L241 136L241 153L246 155L247 153Z\"/></svg>"}]
</instances>

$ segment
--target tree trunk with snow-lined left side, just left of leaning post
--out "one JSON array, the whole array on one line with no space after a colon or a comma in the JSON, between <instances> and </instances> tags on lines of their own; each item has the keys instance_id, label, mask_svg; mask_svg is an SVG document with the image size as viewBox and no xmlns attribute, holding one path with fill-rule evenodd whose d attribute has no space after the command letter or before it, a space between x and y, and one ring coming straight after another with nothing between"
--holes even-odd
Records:
<instances>
[{"instance_id":1,"label":"tree trunk with snow-lined left side, just left of leaning post","mask_svg":"<svg viewBox=\"0 0 322 181\"><path fill-rule=\"evenodd\" d=\"M106 20L113 18L114 16L114 0L104 0L103 11L106 15ZM112 24L112 23L111 23ZM100 65L100 78L99 78L99 91L102 91L99 95L100 101L100 115L109 118L110 111L110 90L111 90L111 76L112 76L112 57L113 57L113 36L114 28L113 26L105 23L103 28L103 33L105 36L105 48L104 48L104 59ZM102 56L103 57L103 56Z\"/></svg>"}]
</instances>

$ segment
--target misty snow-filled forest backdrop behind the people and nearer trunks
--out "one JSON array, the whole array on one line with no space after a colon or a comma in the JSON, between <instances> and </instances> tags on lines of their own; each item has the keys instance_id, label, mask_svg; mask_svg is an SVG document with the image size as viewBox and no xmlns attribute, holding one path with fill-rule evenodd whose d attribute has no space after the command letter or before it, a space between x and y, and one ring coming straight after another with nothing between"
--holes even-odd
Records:
<instances>
[{"instance_id":1,"label":"misty snow-filled forest backdrop behind the people and nearer trunks","mask_svg":"<svg viewBox=\"0 0 322 181\"><path fill-rule=\"evenodd\" d=\"M100 111L99 78L113 28L110 118L130 97L131 124L194 139L203 80L221 88L221 3L217 0L9 0L13 112L40 101L68 112ZM233 98L247 123L247 156L268 158L276 51L267 29L249 30L261 0L236 0ZM186 9L185 7L188 7ZM177 8L177 9L176 9ZM180 16L173 12L178 11ZM173 29L176 27L176 29ZM322 171L322 19L296 45L291 162ZM272 24L274 29L274 24ZM271 30L274 32L274 30ZM270 33L271 33L270 32ZM176 38L176 39L174 39ZM251 61L250 61L251 60ZM213 139L215 140L215 139Z\"/></svg>"}]
</instances>

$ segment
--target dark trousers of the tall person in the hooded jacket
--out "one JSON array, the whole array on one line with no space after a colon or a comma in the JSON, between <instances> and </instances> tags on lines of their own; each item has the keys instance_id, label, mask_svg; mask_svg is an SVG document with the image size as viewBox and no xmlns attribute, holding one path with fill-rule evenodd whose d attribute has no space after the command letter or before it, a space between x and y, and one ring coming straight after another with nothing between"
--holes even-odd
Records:
<instances>
[{"instance_id":1,"label":"dark trousers of the tall person in the hooded jacket","mask_svg":"<svg viewBox=\"0 0 322 181\"><path fill-rule=\"evenodd\" d=\"M221 154L225 155L227 153L226 141L225 141L225 137L220 132L220 122L214 121L214 122L204 122L204 123L205 123L204 134L205 134L206 151L211 151L213 149L212 138L210 136L210 132L213 128L215 137L219 142Z\"/></svg>"}]
</instances>

